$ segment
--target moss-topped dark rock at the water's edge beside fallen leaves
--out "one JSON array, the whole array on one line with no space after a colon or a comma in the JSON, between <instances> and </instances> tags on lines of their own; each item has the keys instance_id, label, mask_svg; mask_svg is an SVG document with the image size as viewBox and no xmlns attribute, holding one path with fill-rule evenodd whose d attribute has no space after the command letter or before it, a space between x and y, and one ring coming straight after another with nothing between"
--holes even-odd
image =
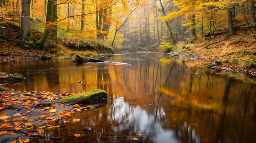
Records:
<instances>
[{"instance_id":1,"label":"moss-topped dark rock at the water's edge beside fallen leaves","mask_svg":"<svg viewBox=\"0 0 256 143\"><path fill-rule=\"evenodd\" d=\"M97 101L102 101L103 99L106 99L106 98L107 98L106 91L101 89L94 89L88 92L79 93L78 95L63 97L56 102L74 105L79 103L82 103L82 104L93 103Z\"/></svg>"}]
</instances>

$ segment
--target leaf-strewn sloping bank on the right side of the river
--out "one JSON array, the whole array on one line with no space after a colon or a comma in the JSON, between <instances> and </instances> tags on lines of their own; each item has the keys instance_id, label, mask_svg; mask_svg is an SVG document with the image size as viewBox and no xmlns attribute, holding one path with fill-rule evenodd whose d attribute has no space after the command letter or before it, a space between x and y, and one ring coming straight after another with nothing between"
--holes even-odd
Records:
<instances>
[{"instance_id":1,"label":"leaf-strewn sloping bank on the right side of the river","mask_svg":"<svg viewBox=\"0 0 256 143\"><path fill-rule=\"evenodd\" d=\"M221 31L220 31L221 32ZM177 43L170 57L213 62L211 68L250 73L256 76L256 40L249 29L239 29L236 35ZM217 63L215 61L219 61ZM216 64L217 63L217 64Z\"/></svg>"}]
</instances>

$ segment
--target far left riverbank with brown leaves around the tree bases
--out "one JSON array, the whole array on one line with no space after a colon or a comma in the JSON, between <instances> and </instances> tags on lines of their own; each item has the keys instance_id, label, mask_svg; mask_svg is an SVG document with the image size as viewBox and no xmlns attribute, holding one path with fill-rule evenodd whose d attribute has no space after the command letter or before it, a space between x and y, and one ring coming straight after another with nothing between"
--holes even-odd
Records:
<instances>
[{"instance_id":1,"label":"far left riverbank with brown leaves around the tree bases","mask_svg":"<svg viewBox=\"0 0 256 143\"><path fill-rule=\"evenodd\" d=\"M0 60L67 59L75 55L97 57L99 53L113 53L112 47L101 42L72 37L59 37L58 41L50 40L47 51L41 51L35 43L16 43L20 26L8 23L5 25L5 31L6 37L0 39ZM31 33L37 40L43 35L36 30Z\"/></svg>"}]
</instances>

